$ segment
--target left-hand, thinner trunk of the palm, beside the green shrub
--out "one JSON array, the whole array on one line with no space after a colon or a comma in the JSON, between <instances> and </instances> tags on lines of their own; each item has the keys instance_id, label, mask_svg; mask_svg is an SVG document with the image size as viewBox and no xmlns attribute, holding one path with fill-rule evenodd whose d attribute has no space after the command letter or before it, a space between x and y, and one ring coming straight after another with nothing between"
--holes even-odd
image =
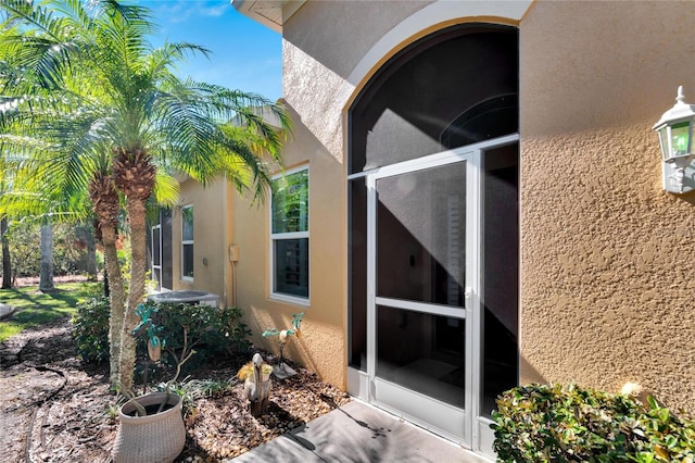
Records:
<instances>
[{"instance_id":1,"label":"left-hand, thinner trunk of the palm, beside the green shrub","mask_svg":"<svg viewBox=\"0 0 695 463\"><path fill-rule=\"evenodd\" d=\"M125 318L126 293L118 263L116 250L116 228L113 225L101 226L101 241L104 247L104 266L109 279L109 301L111 316L109 322L109 365L110 381L113 388L117 388L121 381L121 345L123 322Z\"/></svg>"}]
</instances>

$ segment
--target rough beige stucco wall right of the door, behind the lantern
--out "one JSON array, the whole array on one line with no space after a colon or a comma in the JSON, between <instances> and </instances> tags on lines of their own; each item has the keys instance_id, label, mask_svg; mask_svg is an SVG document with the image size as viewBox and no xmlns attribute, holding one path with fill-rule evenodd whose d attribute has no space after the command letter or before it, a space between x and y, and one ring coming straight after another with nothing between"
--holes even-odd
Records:
<instances>
[{"instance_id":1,"label":"rough beige stucco wall right of the door, behind the lantern","mask_svg":"<svg viewBox=\"0 0 695 463\"><path fill-rule=\"evenodd\" d=\"M520 24L521 381L637 381L695 412L695 197L652 125L695 101L695 9L536 1Z\"/></svg>"}]
</instances>

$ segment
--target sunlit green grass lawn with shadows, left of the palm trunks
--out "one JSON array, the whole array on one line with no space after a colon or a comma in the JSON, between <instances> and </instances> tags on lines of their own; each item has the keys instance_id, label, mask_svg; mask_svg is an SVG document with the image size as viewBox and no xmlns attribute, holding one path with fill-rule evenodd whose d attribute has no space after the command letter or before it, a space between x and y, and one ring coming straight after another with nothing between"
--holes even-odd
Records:
<instances>
[{"instance_id":1,"label":"sunlit green grass lawn with shadows, left of the palm trunks","mask_svg":"<svg viewBox=\"0 0 695 463\"><path fill-rule=\"evenodd\" d=\"M103 283L65 283L45 295L38 286L0 289L0 303L21 308L10 320L0 322L0 342L29 326L73 315L79 302L103 293Z\"/></svg>"}]
</instances>

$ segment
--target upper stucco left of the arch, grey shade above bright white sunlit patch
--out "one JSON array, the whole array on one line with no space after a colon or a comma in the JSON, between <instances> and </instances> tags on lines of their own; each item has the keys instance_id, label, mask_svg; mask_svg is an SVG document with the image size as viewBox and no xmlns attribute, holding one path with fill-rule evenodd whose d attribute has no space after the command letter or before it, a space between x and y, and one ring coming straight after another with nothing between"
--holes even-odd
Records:
<instances>
[{"instance_id":1,"label":"upper stucco left of the arch, grey shade above bright white sunlit patch","mask_svg":"<svg viewBox=\"0 0 695 463\"><path fill-rule=\"evenodd\" d=\"M394 9L389 2L309 1L283 27L285 99L338 161L342 111L355 88L350 73L384 32L428 3L403 1Z\"/></svg>"}]
</instances>

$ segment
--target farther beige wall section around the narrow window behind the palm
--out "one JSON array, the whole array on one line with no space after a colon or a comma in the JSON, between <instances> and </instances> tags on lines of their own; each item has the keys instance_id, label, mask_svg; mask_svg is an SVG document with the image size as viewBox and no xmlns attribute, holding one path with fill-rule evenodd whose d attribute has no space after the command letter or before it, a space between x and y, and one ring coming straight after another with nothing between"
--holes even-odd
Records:
<instances>
[{"instance_id":1,"label":"farther beige wall section around the narrow window behind the palm","mask_svg":"<svg viewBox=\"0 0 695 463\"><path fill-rule=\"evenodd\" d=\"M228 243L231 241L230 201L227 182L218 178L206 187L194 180L181 183L177 208L172 212L173 289L198 289L220 297L220 305L228 305L229 273ZM193 205L193 280L181 279L181 213L180 208Z\"/></svg>"}]
</instances>

